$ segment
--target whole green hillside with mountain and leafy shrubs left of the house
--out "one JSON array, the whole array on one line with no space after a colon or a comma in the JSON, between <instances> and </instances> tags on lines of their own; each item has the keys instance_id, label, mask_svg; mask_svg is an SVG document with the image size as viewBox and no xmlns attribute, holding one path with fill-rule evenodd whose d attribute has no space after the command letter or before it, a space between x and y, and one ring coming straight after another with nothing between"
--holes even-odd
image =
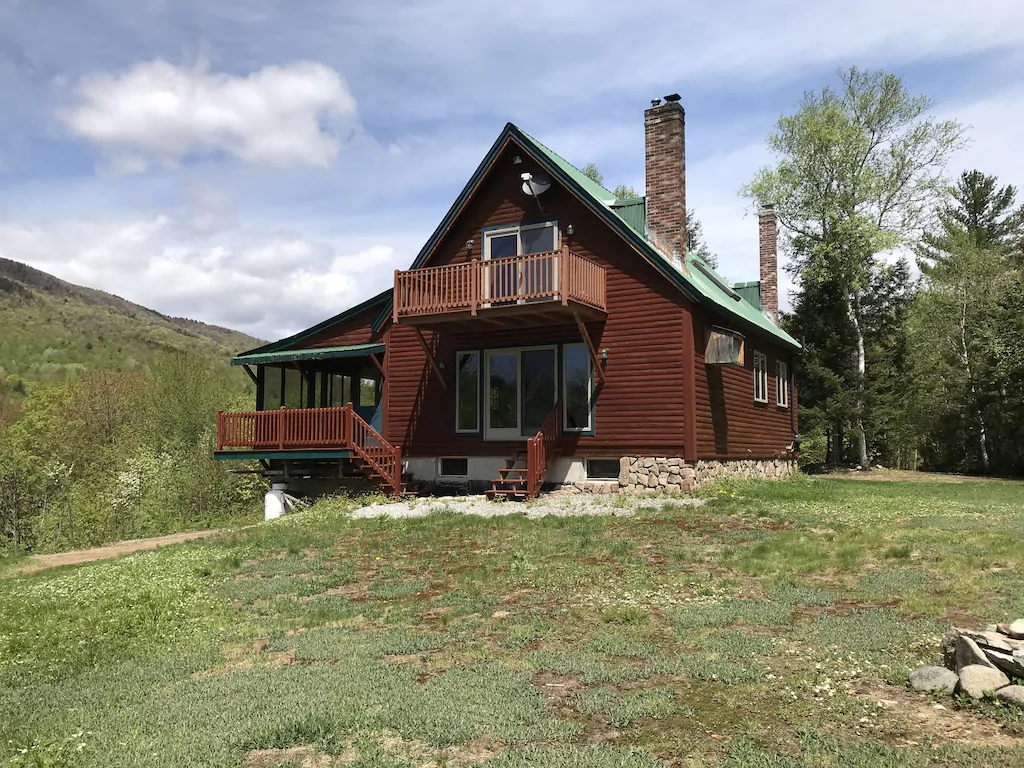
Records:
<instances>
[{"instance_id":1,"label":"whole green hillside with mountain and leafy shrubs left of the house","mask_svg":"<svg viewBox=\"0 0 1024 768\"><path fill-rule=\"evenodd\" d=\"M230 357L259 343L0 259L0 550L253 514L259 480L212 454L217 411L253 400Z\"/></svg>"}]
</instances>

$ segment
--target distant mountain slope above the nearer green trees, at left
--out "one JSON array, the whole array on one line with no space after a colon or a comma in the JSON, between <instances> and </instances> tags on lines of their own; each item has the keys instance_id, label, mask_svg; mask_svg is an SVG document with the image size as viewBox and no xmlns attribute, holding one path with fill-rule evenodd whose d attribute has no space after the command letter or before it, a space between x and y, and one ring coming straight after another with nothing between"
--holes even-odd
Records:
<instances>
[{"instance_id":1,"label":"distant mountain slope above the nearer green trees, at left","mask_svg":"<svg viewBox=\"0 0 1024 768\"><path fill-rule=\"evenodd\" d=\"M169 350L226 364L262 343L0 258L0 382L17 389L19 380L59 381L87 368L145 367Z\"/></svg>"}]
</instances>

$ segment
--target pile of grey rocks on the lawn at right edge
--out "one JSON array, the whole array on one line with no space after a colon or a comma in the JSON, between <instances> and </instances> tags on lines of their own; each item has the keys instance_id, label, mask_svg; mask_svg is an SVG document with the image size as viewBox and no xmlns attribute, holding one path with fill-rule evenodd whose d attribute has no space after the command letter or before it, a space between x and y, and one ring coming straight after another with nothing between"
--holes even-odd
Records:
<instances>
[{"instance_id":1,"label":"pile of grey rocks on the lawn at right edge","mask_svg":"<svg viewBox=\"0 0 1024 768\"><path fill-rule=\"evenodd\" d=\"M930 693L963 691L972 698L994 693L1024 707L1024 618L989 625L983 631L953 630L943 648L945 667L922 667L910 673L910 687Z\"/></svg>"}]
</instances>

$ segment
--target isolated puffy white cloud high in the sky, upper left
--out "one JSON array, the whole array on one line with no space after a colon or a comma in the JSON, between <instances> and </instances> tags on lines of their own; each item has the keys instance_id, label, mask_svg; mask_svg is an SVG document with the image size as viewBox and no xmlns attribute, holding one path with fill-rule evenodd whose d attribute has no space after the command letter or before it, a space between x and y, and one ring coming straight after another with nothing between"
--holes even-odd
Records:
<instances>
[{"instance_id":1,"label":"isolated puffy white cloud high in the sky, upper left","mask_svg":"<svg viewBox=\"0 0 1024 768\"><path fill-rule=\"evenodd\" d=\"M202 61L176 67L156 59L84 76L56 115L124 173L209 153L257 165L326 167L355 111L341 76L315 61L236 77Z\"/></svg>"}]
</instances>

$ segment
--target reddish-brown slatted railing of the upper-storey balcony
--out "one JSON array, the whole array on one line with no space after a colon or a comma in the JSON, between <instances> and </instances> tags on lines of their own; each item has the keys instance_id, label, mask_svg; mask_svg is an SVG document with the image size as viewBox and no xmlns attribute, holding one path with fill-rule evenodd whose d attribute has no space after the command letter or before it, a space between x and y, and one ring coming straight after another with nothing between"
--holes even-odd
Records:
<instances>
[{"instance_id":1,"label":"reddish-brown slatted railing of the upper-storey balcony","mask_svg":"<svg viewBox=\"0 0 1024 768\"><path fill-rule=\"evenodd\" d=\"M606 310L605 269L559 251L395 271L394 319L543 301Z\"/></svg>"}]
</instances>

